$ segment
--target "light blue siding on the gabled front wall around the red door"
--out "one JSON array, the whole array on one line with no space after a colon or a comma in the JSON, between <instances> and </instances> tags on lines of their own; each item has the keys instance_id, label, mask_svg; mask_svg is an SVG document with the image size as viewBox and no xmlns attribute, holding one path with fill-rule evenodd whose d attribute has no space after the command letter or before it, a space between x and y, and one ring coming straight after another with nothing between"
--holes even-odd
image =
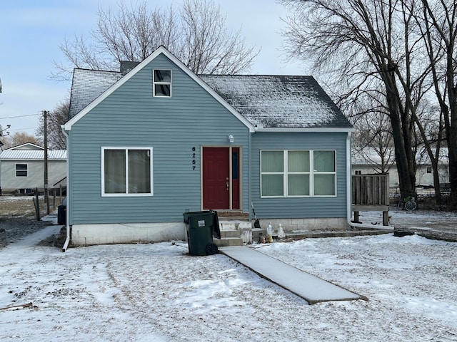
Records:
<instances>
[{"instance_id":1,"label":"light blue siding on the gabled front wall around the red door","mask_svg":"<svg viewBox=\"0 0 457 342\"><path fill-rule=\"evenodd\" d=\"M152 96L153 68L172 69L172 98ZM230 145L242 150L242 206L248 211L248 128L158 56L72 126L69 223L182 222L186 209L201 210L201 147L228 146L230 134ZM101 147L117 146L154 147L154 196L101 196Z\"/></svg>"}]
</instances>

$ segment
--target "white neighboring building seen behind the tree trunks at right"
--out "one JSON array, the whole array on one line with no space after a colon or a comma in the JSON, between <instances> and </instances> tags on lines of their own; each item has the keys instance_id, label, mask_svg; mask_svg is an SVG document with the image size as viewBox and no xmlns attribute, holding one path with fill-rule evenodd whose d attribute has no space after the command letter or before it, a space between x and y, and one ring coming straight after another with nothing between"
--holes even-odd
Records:
<instances>
[{"instance_id":1,"label":"white neighboring building seen behind the tree trunks at right","mask_svg":"<svg viewBox=\"0 0 457 342\"><path fill-rule=\"evenodd\" d=\"M389 151L388 151L389 152ZM398 187L398 172L395 162L395 153L393 147L390 151L390 159L386 158L386 170L389 175L389 187ZM389 154L389 153L388 153ZM416 186L433 187L433 170L430 158L426 150L421 150L416 154L417 171ZM381 157L376 150L364 148L352 150L352 173L353 175L369 175L381 173ZM440 163L438 165L440 175L440 184L449 182L449 160L447 147L440 149Z\"/></svg>"}]
</instances>

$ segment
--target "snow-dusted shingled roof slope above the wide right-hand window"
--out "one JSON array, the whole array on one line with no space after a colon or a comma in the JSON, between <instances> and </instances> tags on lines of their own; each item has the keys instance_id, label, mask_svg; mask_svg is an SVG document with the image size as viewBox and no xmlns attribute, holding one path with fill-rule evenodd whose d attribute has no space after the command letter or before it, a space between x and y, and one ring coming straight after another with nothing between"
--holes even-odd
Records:
<instances>
[{"instance_id":1,"label":"snow-dusted shingled roof slope above the wide right-hand window","mask_svg":"<svg viewBox=\"0 0 457 342\"><path fill-rule=\"evenodd\" d=\"M253 125L263 128L351 128L312 76L202 75Z\"/></svg>"}]
</instances>

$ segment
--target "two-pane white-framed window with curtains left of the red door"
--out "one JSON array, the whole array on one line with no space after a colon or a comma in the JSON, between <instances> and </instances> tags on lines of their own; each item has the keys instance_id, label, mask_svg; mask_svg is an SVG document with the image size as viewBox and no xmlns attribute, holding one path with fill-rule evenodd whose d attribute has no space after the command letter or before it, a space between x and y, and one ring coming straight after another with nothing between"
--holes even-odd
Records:
<instances>
[{"instance_id":1,"label":"two-pane white-framed window with curtains left of the red door","mask_svg":"<svg viewBox=\"0 0 457 342\"><path fill-rule=\"evenodd\" d=\"M101 147L101 195L152 196L152 147Z\"/></svg>"}]
</instances>

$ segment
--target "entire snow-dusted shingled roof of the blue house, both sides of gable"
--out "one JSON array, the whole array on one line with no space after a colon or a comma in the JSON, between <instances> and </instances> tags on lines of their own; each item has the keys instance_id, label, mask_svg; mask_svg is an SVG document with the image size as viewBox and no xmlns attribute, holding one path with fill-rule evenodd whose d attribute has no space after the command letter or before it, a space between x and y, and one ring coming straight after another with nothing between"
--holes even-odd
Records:
<instances>
[{"instance_id":1,"label":"entire snow-dusted shingled roof of the blue house, both sides of gable","mask_svg":"<svg viewBox=\"0 0 457 342\"><path fill-rule=\"evenodd\" d=\"M70 118L114 85L124 74L75 69ZM261 128L351 128L312 76L202 75L253 125Z\"/></svg>"}]
</instances>

